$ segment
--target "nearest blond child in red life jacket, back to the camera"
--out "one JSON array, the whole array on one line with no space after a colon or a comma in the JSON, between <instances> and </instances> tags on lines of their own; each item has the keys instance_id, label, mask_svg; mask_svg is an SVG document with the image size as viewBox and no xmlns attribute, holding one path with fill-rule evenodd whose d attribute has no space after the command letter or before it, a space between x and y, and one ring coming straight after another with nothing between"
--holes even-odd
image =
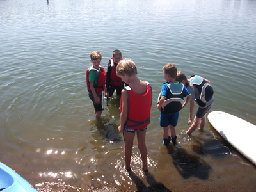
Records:
<instances>
[{"instance_id":1,"label":"nearest blond child in red life jacket, back to the camera","mask_svg":"<svg viewBox=\"0 0 256 192\"><path fill-rule=\"evenodd\" d=\"M120 126L118 131L124 132L125 168L131 170L132 146L137 135L138 148L140 150L144 172L147 167L146 131L150 123L152 106L152 88L148 82L141 81L137 77L137 68L131 60L121 60L116 67L116 74L122 81L129 84L122 90L120 100Z\"/></svg>"}]
</instances>

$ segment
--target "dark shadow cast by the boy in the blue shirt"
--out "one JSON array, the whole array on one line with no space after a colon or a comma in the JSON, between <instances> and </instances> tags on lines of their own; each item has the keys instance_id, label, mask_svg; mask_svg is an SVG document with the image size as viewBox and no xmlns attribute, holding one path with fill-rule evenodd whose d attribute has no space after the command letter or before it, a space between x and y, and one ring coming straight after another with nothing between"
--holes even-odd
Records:
<instances>
[{"instance_id":1,"label":"dark shadow cast by the boy in the blue shirt","mask_svg":"<svg viewBox=\"0 0 256 192\"><path fill-rule=\"evenodd\" d=\"M203 180L209 179L209 171L212 168L204 160L200 159L199 156L189 154L179 145L176 145L176 147L168 145L166 148L172 156L175 168L177 168L184 179L189 177L198 177Z\"/></svg>"}]
</instances>

